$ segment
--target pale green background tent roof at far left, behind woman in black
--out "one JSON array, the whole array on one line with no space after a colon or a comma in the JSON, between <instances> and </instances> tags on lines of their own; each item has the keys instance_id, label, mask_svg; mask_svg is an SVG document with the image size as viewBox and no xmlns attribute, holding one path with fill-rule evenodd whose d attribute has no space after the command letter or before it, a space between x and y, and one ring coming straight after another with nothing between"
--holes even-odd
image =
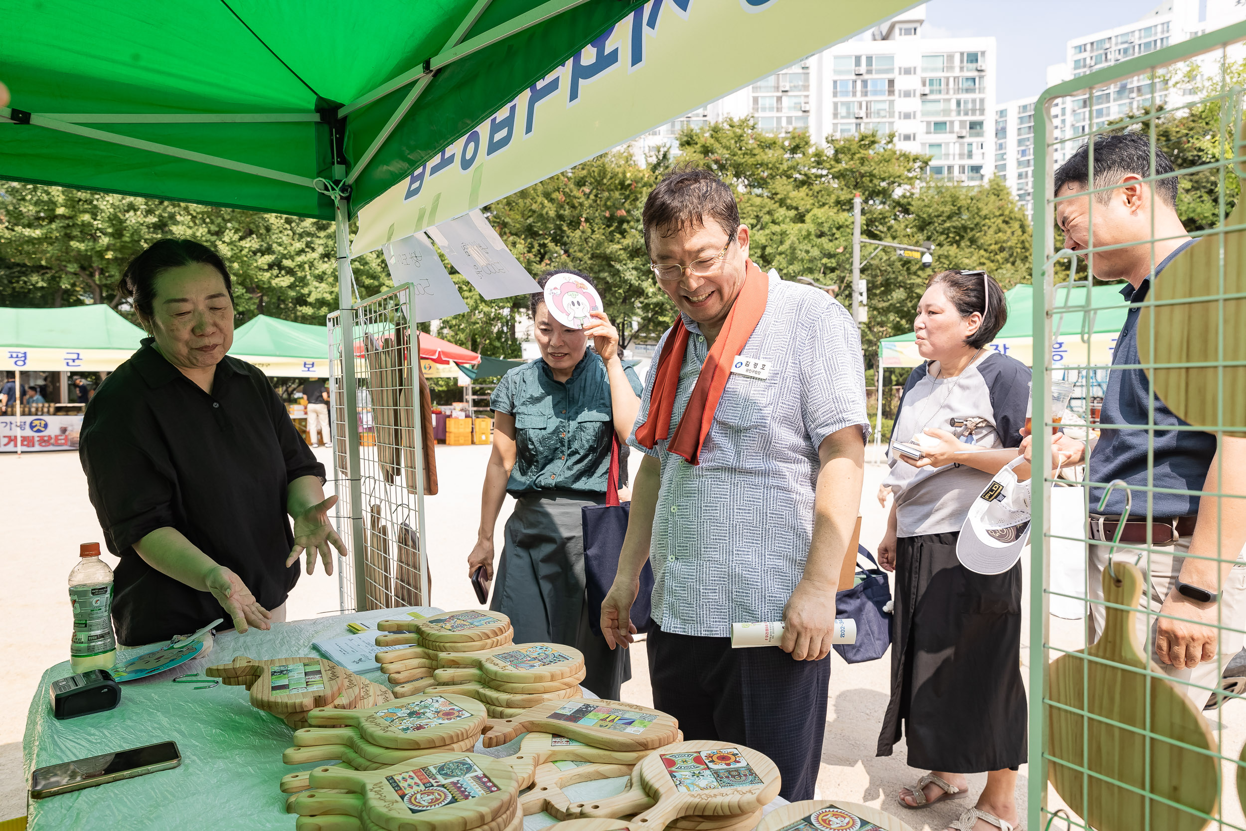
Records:
<instances>
[{"instance_id":1,"label":"pale green background tent roof at far left, behind woman in black","mask_svg":"<svg viewBox=\"0 0 1246 831\"><path fill-rule=\"evenodd\" d=\"M138 349L146 336L108 305L0 309L0 346L25 349Z\"/></svg>"}]
</instances>

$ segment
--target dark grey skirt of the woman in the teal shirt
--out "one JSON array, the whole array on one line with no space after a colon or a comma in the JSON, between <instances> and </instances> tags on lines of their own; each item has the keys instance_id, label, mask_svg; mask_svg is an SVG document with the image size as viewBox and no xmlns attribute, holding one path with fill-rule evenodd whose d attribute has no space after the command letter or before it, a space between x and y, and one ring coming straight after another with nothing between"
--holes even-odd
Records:
<instances>
[{"instance_id":1,"label":"dark grey skirt of the woman in the teal shirt","mask_svg":"<svg viewBox=\"0 0 1246 831\"><path fill-rule=\"evenodd\" d=\"M606 496L579 491L522 493L506 521L502 561L490 608L511 618L515 643L548 642L584 653L582 681L593 695L618 699L632 678L627 649L611 649L588 625L584 532L579 510Z\"/></svg>"}]
</instances>

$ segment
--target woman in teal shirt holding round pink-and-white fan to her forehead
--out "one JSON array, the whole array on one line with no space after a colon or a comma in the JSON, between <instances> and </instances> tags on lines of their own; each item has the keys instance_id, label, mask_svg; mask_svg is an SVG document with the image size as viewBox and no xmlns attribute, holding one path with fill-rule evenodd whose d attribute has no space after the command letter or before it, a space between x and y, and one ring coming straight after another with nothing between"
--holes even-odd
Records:
<instances>
[{"instance_id":1,"label":"woman in teal shirt holding round pink-and-white fan to her forehead","mask_svg":"<svg viewBox=\"0 0 1246 831\"><path fill-rule=\"evenodd\" d=\"M538 283L556 274L548 272ZM606 501L611 439L632 432L640 407L640 379L624 368L618 330L601 311L583 329L563 326L543 294L528 303L541 358L502 376L493 409L493 453L485 473L480 531L467 573L493 574L493 527L506 495L515 512L506 521L502 562L491 609L515 627L516 643L562 643L584 653L583 685L617 699L632 677L625 649L611 649L588 627L584 602L584 539L579 510ZM588 350L593 339L594 351ZM622 497L622 498L625 498Z\"/></svg>"}]
</instances>

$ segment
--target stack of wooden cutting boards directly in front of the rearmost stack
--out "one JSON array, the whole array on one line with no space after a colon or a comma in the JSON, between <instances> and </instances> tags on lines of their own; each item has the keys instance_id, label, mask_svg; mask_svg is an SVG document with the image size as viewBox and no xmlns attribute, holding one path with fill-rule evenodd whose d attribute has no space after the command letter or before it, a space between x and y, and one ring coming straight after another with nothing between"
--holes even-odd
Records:
<instances>
[{"instance_id":1,"label":"stack of wooden cutting boards directly in front of the rearmost stack","mask_svg":"<svg viewBox=\"0 0 1246 831\"><path fill-rule=\"evenodd\" d=\"M507 644L483 652L451 652L437 657L432 685L425 693L468 695L488 715L508 719L545 704L583 695L584 655L556 643ZM405 688L397 688L405 689Z\"/></svg>"}]
</instances>

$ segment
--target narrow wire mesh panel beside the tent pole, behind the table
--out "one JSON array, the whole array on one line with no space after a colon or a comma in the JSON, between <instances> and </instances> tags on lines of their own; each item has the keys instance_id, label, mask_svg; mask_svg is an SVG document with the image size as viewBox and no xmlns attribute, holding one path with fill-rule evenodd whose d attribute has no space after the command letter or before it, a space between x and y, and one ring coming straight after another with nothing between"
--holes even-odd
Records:
<instances>
[{"instance_id":1,"label":"narrow wire mesh panel beside the tent pole, behind the table","mask_svg":"<svg viewBox=\"0 0 1246 831\"><path fill-rule=\"evenodd\" d=\"M410 285L329 316L339 532L350 551L343 609L426 605L424 437ZM348 358L349 356L349 358ZM353 375L353 378L351 378ZM354 387L355 424L348 422ZM349 536L348 536L349 534Z\"/></svg>"}]
</instances>

